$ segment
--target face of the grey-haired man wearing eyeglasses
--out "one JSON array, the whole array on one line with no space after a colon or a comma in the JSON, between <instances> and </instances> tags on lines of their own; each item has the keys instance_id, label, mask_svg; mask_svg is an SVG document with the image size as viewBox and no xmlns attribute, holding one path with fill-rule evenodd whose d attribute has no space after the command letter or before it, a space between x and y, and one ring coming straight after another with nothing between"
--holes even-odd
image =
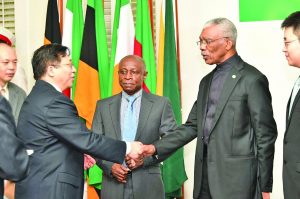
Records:
<instances>
[{"instance_id":1,"label":"face of the grey-haired man wearing eyeglasses","mask_svg":"<svg viewBox=\"0 0 300 199\"><path fill-rule=\"evenodd\" d=\"M227 38L220 26L205 26L199 37L201 55L205 63L219 64L235 54L232 41Z\"/></svg>"}]
</instances>

